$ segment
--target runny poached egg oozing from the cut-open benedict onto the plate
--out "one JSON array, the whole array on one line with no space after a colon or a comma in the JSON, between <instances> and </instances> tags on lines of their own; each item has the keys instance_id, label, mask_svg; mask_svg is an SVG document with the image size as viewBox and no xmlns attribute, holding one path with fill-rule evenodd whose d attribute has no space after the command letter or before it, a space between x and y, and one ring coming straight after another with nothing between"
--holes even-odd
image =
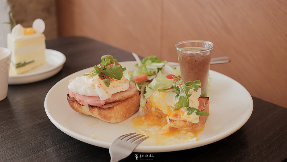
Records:
<instances>
[{"instance_id":1,"label":"runny poached egg oozing from the cut-open benedict onto the plate","mask_svg":"<svg viewBox=\"0 0 287 162\"><path fill-rule=\"evenodd\" d=\"M189 101L189 105L197 108L197 105L199 105L197 94L194 92L189 93L193 93L189 98L189 100L192 100ZM178 102L175 96L176 94L173 92L155 92L150 97L150 104L143 108L145 114L132 119L133 127L137 129L137 133L149 136L147 141L154 145L163 146L174 144L174 142L179 144L200 140L198 134L204 127L195 132L189 132L168 125L167 116L197 123L195 113L187 115L185 108L174 110L174 105Z\"/></svg>"}]
</instances>

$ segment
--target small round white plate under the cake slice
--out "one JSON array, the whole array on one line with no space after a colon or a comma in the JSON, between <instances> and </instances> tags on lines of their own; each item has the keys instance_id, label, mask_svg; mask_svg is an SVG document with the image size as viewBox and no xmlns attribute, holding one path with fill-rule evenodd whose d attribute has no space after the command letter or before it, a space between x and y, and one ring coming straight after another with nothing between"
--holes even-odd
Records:
<instances>
[{"instance_id":1,"label":"small round white plate under the cake slice","mask_svg":"<svg viewBox=\"0 0 287 162\"><path fill-rule=\"evenodd\" d=\"M13 74L9 72L9 85L11 84L25 84L41 81L57 74L66 62L66 56L56 50L46 49L46 63L24 74Z\"/></svg>"}]
</instances>

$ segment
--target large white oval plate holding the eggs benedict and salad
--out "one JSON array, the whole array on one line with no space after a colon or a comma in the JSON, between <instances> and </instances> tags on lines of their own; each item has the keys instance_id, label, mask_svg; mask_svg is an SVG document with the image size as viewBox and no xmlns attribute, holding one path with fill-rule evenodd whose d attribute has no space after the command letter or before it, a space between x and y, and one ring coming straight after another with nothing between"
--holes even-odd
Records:
<instances>
[{"instance_id":1,"label":"large white oval plate holding the eggs benedict and salad","mask_svg":"<svg viewBox=\"0 0 287 162\"><path fill-rule=\"evenodd\" d=\"M120 64L130 71L135 70L135 61ZM119 123L107 123L75 112L67 102L68 81L92 69L91 67L78 71L56 83L47 93L44 107L52 123L64 133L82 142L109 148L117 137L135 131L131 120L140 112ZM169 152L207 145L229 136L247 122L253 110L253 100L249 92L230 77L213 70L210 70L210 75L210 116L204 130L199 134L201 140L167 146L155 146L144 141L135 148L135 152Z\"/></svg>"}]
</instances>

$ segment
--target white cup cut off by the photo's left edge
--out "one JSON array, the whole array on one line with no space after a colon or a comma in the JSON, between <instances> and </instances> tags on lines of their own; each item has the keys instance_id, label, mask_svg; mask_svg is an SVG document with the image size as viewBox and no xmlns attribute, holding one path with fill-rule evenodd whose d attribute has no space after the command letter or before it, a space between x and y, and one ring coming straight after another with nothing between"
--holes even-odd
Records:
<instances>
[{"instance_id":1,"label":"white cup cut off by the photo's left edge","mask_svg":"<svg viewBox=\"0 0 287 162\"><path fill-rule=\"evenodd\" d=\"M7 97L11 51L0 47L0 101Z\"/></svg>"}]
</instances>

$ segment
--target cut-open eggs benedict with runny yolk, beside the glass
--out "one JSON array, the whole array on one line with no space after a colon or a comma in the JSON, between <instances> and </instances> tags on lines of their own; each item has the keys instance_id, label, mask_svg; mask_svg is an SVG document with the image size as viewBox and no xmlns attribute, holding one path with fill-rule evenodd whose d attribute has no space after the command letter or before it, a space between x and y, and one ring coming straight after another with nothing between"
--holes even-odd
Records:
<instances>
[{"instance_id":1,"label":"cut-open eggs benedict with runny yolk, beside the glass","mask_svg":"<svg viewBox=\"0 0 287 162\"><path fill-rule=\"evenodd\" d=\"M168 125L181 131L202 129L209 115L209 98L199 97L200 81L183 83L181 76L173 78L172 87L158 89L146 99L142 109L145 119L152 119L150 125Z\"/></svg>"}]
</instances>

